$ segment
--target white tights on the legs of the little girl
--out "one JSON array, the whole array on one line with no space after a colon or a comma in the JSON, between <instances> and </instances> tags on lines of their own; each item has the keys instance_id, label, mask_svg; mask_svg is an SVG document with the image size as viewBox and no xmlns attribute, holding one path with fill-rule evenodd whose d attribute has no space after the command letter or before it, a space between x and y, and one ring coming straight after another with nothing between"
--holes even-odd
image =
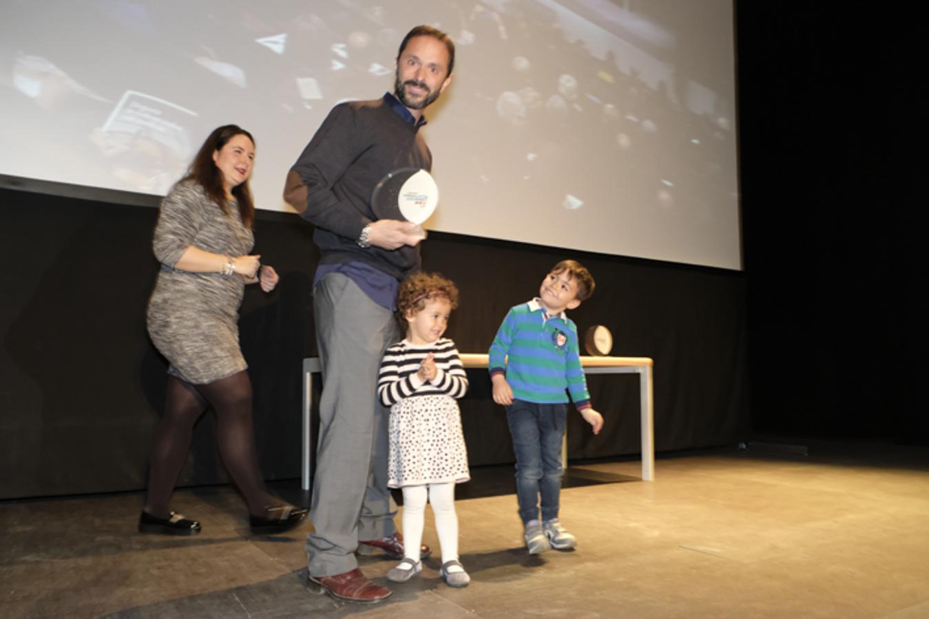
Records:
<instances>
[{"instance_id":1,"label":"white tights on the legs of the little girl","mask_svg":"<svg viewBox=\"0 0 929 619\"><path fill-rule=\"evenodd\" d=\"M404 556L412 561L420 560L426 499L432 504L432 513L436 517L442 562L458 561L458 515L455 513L454 483L403 486Z\"/></svg>"}]
</instances>

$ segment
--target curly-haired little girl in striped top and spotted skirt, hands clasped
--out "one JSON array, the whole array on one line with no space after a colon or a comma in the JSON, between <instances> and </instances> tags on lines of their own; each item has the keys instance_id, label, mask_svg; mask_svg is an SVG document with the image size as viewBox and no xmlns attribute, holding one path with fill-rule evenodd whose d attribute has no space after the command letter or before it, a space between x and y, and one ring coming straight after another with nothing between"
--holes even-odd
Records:
<instances>
[{"instance_id":1,"label":"curly-haired little girl in striped top and spotted skirt, hands clasped","mask_svg":"<svg viewBox=\"0 0 929 619\"><path fill-rule=\"evenodd\" d=\"M450 587L467 587L471 577L458 562L458 516L455 484L468 481L461 416L454 398L467 391L454 342L442 338L458 289L438 274L417 273L400 284L399 320L406 339L390 346L381 362L377 393L390 406L391 488L403 491L403 535L406 554L387 574L402 583L423 569L426 499L436 517L442 548L442 578Z\"/></svg>"}]
</instances>

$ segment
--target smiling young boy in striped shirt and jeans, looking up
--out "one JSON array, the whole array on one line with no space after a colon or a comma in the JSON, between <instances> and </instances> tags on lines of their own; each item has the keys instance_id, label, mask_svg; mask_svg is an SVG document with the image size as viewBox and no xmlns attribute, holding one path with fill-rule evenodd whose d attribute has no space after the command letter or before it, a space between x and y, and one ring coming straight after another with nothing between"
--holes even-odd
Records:
<instances>
[{"instance_id":1,"label":"smiling young boy in striped shirt and jeans, looking up","mask_svg":"<svg viewBox=\"0 0 929 619\"><path fill-rule=\"evenodd\" d=\"M576 308L593 292L590 271L573 260L561 261L543 279L538 297L510 309L491 344L493 401L506 406L517 456L519 517L530 554L577 545L558 522L565 390L595 434L603 427L603 417L590 405L577 327L565 310Z\"/></svg>"}]
</instances>

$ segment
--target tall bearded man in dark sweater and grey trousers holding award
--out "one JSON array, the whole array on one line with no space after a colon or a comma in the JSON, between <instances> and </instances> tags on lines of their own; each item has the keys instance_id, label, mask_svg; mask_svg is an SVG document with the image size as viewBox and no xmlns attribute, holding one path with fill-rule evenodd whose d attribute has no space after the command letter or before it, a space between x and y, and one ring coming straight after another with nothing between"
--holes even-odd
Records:
<instances>
[{"instance_id":1,"label":"tall bearded man in dark sweater and grey trousers holding award","mask_svg":"<svg viewBox=\"0 0 929 619\"><path fill-rule=\"evenodd\" d=\"M403 557L386 485L387 410L375 393L381 357L396 339L399 281L419 269L425 234L420 221L401 220L397 192L381 189L404 174L422 178L412 174L419 170L431 180L432 155L419 128L423 110L451 82L453 66L448 35L413 28L399 46L394 93L335 106L284 188L284 199L316 227L321 251L313 314L324 388L309 580L342 600L373 602L391 593L361 574L355 552ZM414 193L418 204L435 203L421 188L404 184L403 192Z\"/></svg>"}]
</instances>

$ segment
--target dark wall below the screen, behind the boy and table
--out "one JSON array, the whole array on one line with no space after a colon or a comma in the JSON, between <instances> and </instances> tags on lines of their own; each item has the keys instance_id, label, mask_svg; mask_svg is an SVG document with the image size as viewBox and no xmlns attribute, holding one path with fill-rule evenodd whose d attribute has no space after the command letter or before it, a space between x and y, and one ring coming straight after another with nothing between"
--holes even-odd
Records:
<instances>
[{"instance_id":1,"label":"dark wall below the screen, behind the boy and table","mask_svg":"<svg viewBox=\"0 0 929 619\"><path fill-rule=\"evenodd\" d=\"M579 331L606 325L613 354L655 360L655 447L685 449L732 443L747 420L745 282L741 273L585 254L519 243L432 234L424 266L456 281L460 307L449 337L463 352L486 352L506 311L538 294L544 275L574 257L596 280L594 296L569 312ZM569 417L569 457L598 458L640 450L635 375L588 377L607 424L594 436ZM490 384L472 376L462 405L472 464L512 462L504 411Z\"/></svg>"}]
</instances>

